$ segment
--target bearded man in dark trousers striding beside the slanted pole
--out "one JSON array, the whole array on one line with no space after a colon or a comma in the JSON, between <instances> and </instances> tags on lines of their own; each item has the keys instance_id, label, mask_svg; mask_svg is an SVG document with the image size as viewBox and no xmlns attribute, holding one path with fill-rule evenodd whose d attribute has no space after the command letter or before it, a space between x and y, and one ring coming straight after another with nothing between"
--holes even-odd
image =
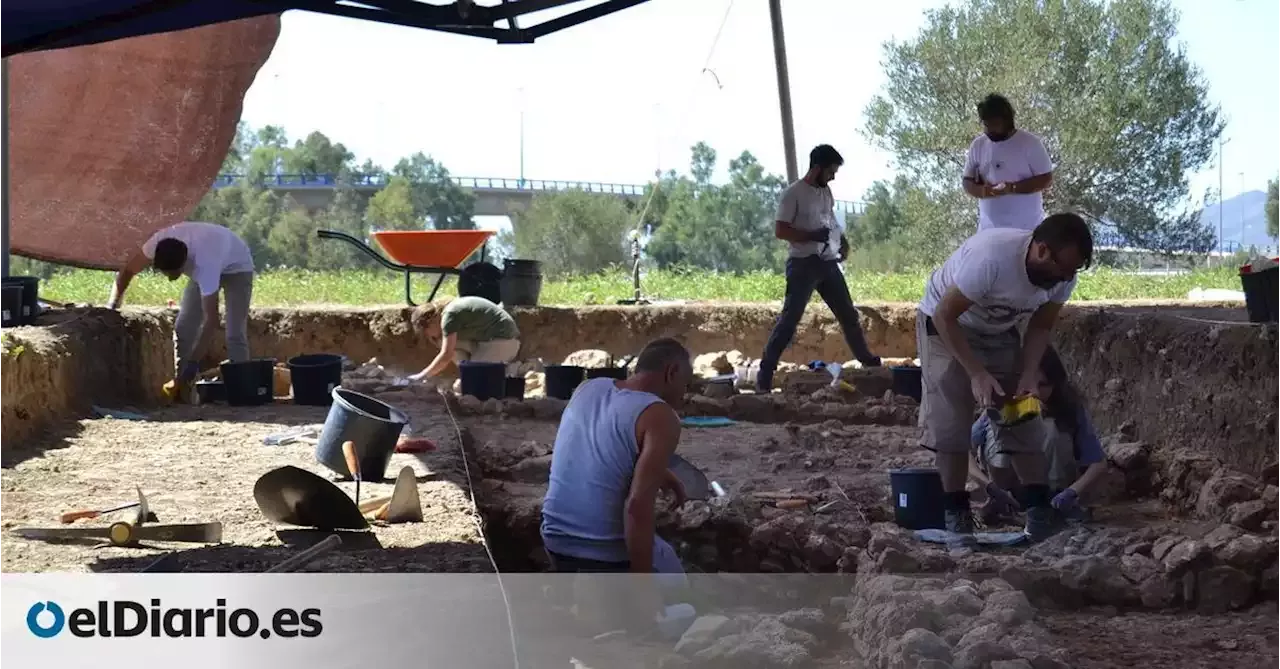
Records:
<instances>
[{"instance_id":1,"label":"bearded man in dark trousers striding beside the slanted pole","mask_svg":"<svg viewBox=\"0 0 1280 669\"><path fill-rule=\"evenodd\" d=\"M836 200L827 184L845 159L831 146L820 145L809 152L809 173L787 187L778 202L774 216L774 234L791 244L787 258L787 292L782 313L769 334L760 356L760 371L755 377L758 391L773 389L773 371L778 358L791 345L796 326L809 306L813 292L831 308L831 313L845 333L845 343L854 357L865 367L879 367L881 359L867 347L863 326L858 321L858 308L849 295L849 284L840 264L849 257L849 239L836 220Z\"/></svg>"}]
</instances>

